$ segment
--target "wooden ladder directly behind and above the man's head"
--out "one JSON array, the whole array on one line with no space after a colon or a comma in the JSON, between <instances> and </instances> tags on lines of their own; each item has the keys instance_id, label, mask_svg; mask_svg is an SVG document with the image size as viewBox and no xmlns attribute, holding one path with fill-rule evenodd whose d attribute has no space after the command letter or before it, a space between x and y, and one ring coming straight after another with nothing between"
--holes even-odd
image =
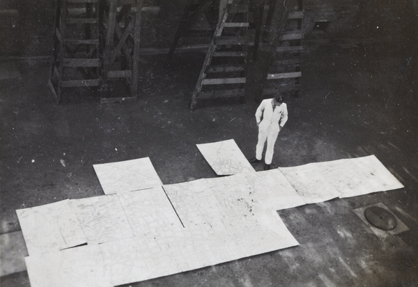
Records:
<instances>
[{"instance_id":1,"label":"wooden ladder directly behind and above the man's head","mask_svg":"<svg viewBox=\"0 0 418 287\"><path fill-rule=\"evenodd\" d=\"M257 102L272 98L277 93L297 96L300 91L302 79L300 53L303 49L304 37L302 1L297 1L294 9L286 9L283 12L279 26L281 32L273 40L270 68L265 78L263 91L255 99Z\"/></svg>"}]
</instances>

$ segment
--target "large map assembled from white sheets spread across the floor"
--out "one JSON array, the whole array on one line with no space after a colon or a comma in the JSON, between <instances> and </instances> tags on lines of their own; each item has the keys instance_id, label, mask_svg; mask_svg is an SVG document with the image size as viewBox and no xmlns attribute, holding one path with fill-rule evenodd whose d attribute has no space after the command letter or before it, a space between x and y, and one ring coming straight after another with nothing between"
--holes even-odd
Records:
<instances>
[{"instance_id":1,"label":"large map assembled from white sheets spread across the floor","mask_svg":"<svg viewBox=\"0 0 418 287\"><path fill-rule=\"evenodd\" d=\"M148 158L104 164L108 195L17 210L31 286L116 286L294 247L276 210L403 187L374 156L255 172L234 144L209 156L231 176L162 185Z\"/></svg>"}]
</instances>

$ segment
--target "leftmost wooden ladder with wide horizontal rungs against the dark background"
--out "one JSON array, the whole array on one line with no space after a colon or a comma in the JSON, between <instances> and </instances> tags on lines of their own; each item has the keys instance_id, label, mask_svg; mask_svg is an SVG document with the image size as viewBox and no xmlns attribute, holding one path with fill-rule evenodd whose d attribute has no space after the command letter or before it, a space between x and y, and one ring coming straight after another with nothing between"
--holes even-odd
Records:
<instances>
[{"instance_id":1,"label":"leftmost wooden ladder with wide horizontal rungs against the dark background","mask_svg":"<svg viewBox=\"0 0 418 287\"><path fill-rule=\"evenodd\" d=\"M49 87L57 102L63 88L100 86L98 0L57 0Z\"/></svg>"}]
</instances>

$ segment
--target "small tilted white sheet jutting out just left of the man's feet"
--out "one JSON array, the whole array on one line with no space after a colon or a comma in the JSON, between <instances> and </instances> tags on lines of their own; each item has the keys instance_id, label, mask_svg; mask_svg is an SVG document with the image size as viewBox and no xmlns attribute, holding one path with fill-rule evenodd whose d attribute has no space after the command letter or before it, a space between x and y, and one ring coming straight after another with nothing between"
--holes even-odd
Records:
<instances>
[{"instance_id":1,"label":"small tilted white sheet jutting out just left of the man's feet","mask_svg":"<svg viewBox=\"0 0 418 287\"><path fill-rule=\"evenodd\" d=\"M255 172L233 139L196 146L218 176Z\"/></svg>"}]
</instances>

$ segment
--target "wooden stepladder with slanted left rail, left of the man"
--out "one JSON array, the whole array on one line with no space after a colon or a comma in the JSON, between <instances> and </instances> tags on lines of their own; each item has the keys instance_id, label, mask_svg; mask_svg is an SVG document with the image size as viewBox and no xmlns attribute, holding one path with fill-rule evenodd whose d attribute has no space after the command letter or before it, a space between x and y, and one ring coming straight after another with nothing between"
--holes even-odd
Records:
<instances>
[{"instance_id":1,"label":"wooden stepladder with slanted left rail, left of the man","mask_svg":"<svg viewBox=\"0 0 418 287\"><path fill-rule=\"evenodd\" d=\"M198 102L224 98L245 99L248 0L229 0L210 41L194 89L190 109Z\"/></svg>"}]
</instances>

